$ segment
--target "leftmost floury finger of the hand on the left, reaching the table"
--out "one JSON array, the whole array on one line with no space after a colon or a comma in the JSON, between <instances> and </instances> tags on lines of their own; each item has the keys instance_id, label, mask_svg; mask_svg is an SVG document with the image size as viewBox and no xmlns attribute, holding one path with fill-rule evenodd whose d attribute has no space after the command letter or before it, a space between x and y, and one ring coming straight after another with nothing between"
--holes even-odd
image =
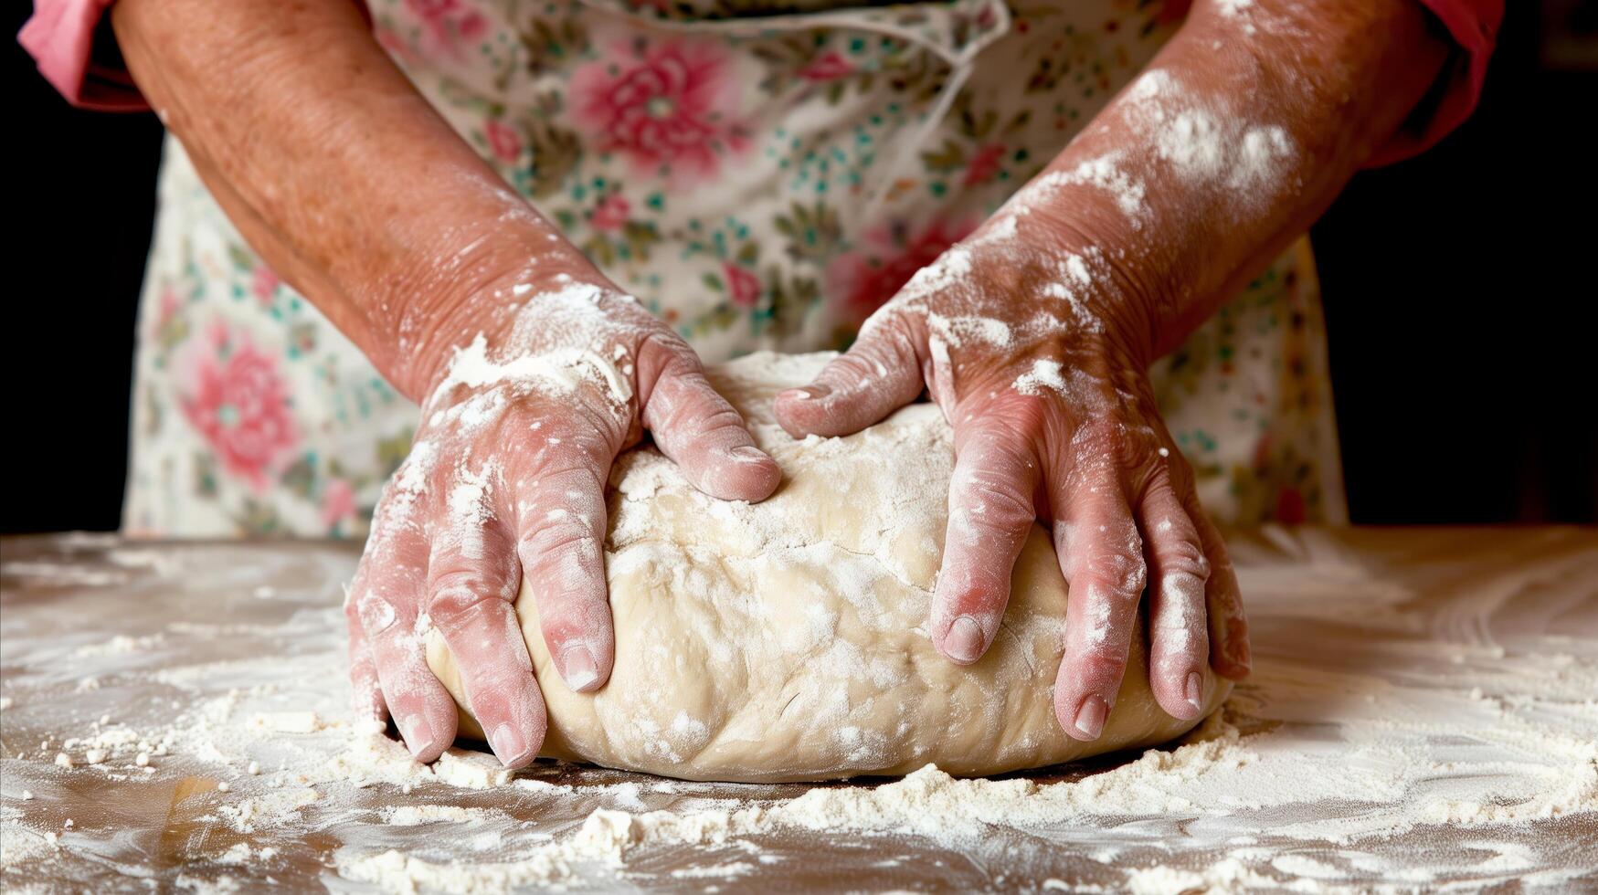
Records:
<instances>
[{"instance_id":1,"label":"leftmost floury finger of the hand on the left, reaching the table","mask_svg":"<svg viewBox=\"0 0 1598 895\"><path fill-rule=\"evenodd\" d=\"M455 700L427 666L417 607L427 595L427 540L407 500L384 495L350 599L377 671L382 700L417 761L436 759L455 740ZM398 503L398 507L396 507Z\"/></svg>"}]
</instances>

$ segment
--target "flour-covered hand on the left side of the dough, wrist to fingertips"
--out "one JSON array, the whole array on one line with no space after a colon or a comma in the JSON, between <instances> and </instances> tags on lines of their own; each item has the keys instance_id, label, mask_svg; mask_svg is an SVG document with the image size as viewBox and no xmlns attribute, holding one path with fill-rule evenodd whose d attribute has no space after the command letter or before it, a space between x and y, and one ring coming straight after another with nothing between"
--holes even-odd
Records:
<instances>
[{"instance_id":1,"label":"flour-covered hand on the left side of the dough, wrist to fingertips","mask_svg":"<svg viewBox=\"0 0 1598 895\"><path fill-rule=\"evenodd\" d=\"M781 479L694 350L631 296L598 275L532 291L497 334L457 329L470 344L422 403L345 601L356 703L393 716L423 762L455 738L428 625L494 754L508 767L539 754L547 716L516 622L523 577L564 676L542 684L588 692L609 678L604 486L642 428L714 497L764 500Z\"/></svg>"}]
</instances>

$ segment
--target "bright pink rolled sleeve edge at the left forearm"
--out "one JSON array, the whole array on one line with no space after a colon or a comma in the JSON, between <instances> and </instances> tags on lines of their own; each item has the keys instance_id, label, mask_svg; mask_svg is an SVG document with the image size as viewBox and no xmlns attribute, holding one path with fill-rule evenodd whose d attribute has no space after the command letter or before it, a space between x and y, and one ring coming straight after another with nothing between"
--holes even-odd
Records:
<instances>
[{"instance_id":1,"label":"bright pink rolled sleeve edge at the left forearm","mask_svg":"<svg viewBox=\"0 0 1598 895\"><path fill-rule=\"evenodd\" d=\"M145 109L139 88L118 58L94 58L94 30L112 0L34 0L34 18L16 35L67 102L102 112Z\"/></svg>"}]
</instances>

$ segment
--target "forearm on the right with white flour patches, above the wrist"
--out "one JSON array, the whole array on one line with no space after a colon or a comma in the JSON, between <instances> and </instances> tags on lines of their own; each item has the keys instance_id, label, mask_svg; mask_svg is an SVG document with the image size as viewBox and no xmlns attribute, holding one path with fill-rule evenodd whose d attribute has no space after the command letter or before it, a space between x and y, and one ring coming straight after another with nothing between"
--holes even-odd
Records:
<instances>
[{"instance_id":1,"label":"forearm on the right with white flour patches, above the wrist","mask_svg":"<svg viewBox=\"0 0 1598 895\"><path fill-rule=\"evenodd\" d=\"M1198 0L1018 203L1104 253L1103 310L1152 360L1320 216L1446 54L1414 0Z\"/></svg>"}]
</instances>

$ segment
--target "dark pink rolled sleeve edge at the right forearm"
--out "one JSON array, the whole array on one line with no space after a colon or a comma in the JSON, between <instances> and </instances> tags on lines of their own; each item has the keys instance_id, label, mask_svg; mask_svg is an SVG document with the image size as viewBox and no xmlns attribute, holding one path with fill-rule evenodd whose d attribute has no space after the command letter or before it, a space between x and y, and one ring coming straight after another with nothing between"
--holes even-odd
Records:
<instances>
[{"instance_id":1,"label":"dark pink rolled sleeve edge at the right forearm","mask_svg":"<svg viewBox=\"0 0 1598 895\"><path fill-rule=\"evenodd\" d=\"M1488 77L1488 59L1504 19L1504 0L1421 0L1421 5L1448 29L1459 50L1443 69L1441 96L1433 101L1424 126L1400 129L1366 161L1368 168L1425 152L1469 118L1481 97L1481 82Z\"/></svg>"}]
</instances>

